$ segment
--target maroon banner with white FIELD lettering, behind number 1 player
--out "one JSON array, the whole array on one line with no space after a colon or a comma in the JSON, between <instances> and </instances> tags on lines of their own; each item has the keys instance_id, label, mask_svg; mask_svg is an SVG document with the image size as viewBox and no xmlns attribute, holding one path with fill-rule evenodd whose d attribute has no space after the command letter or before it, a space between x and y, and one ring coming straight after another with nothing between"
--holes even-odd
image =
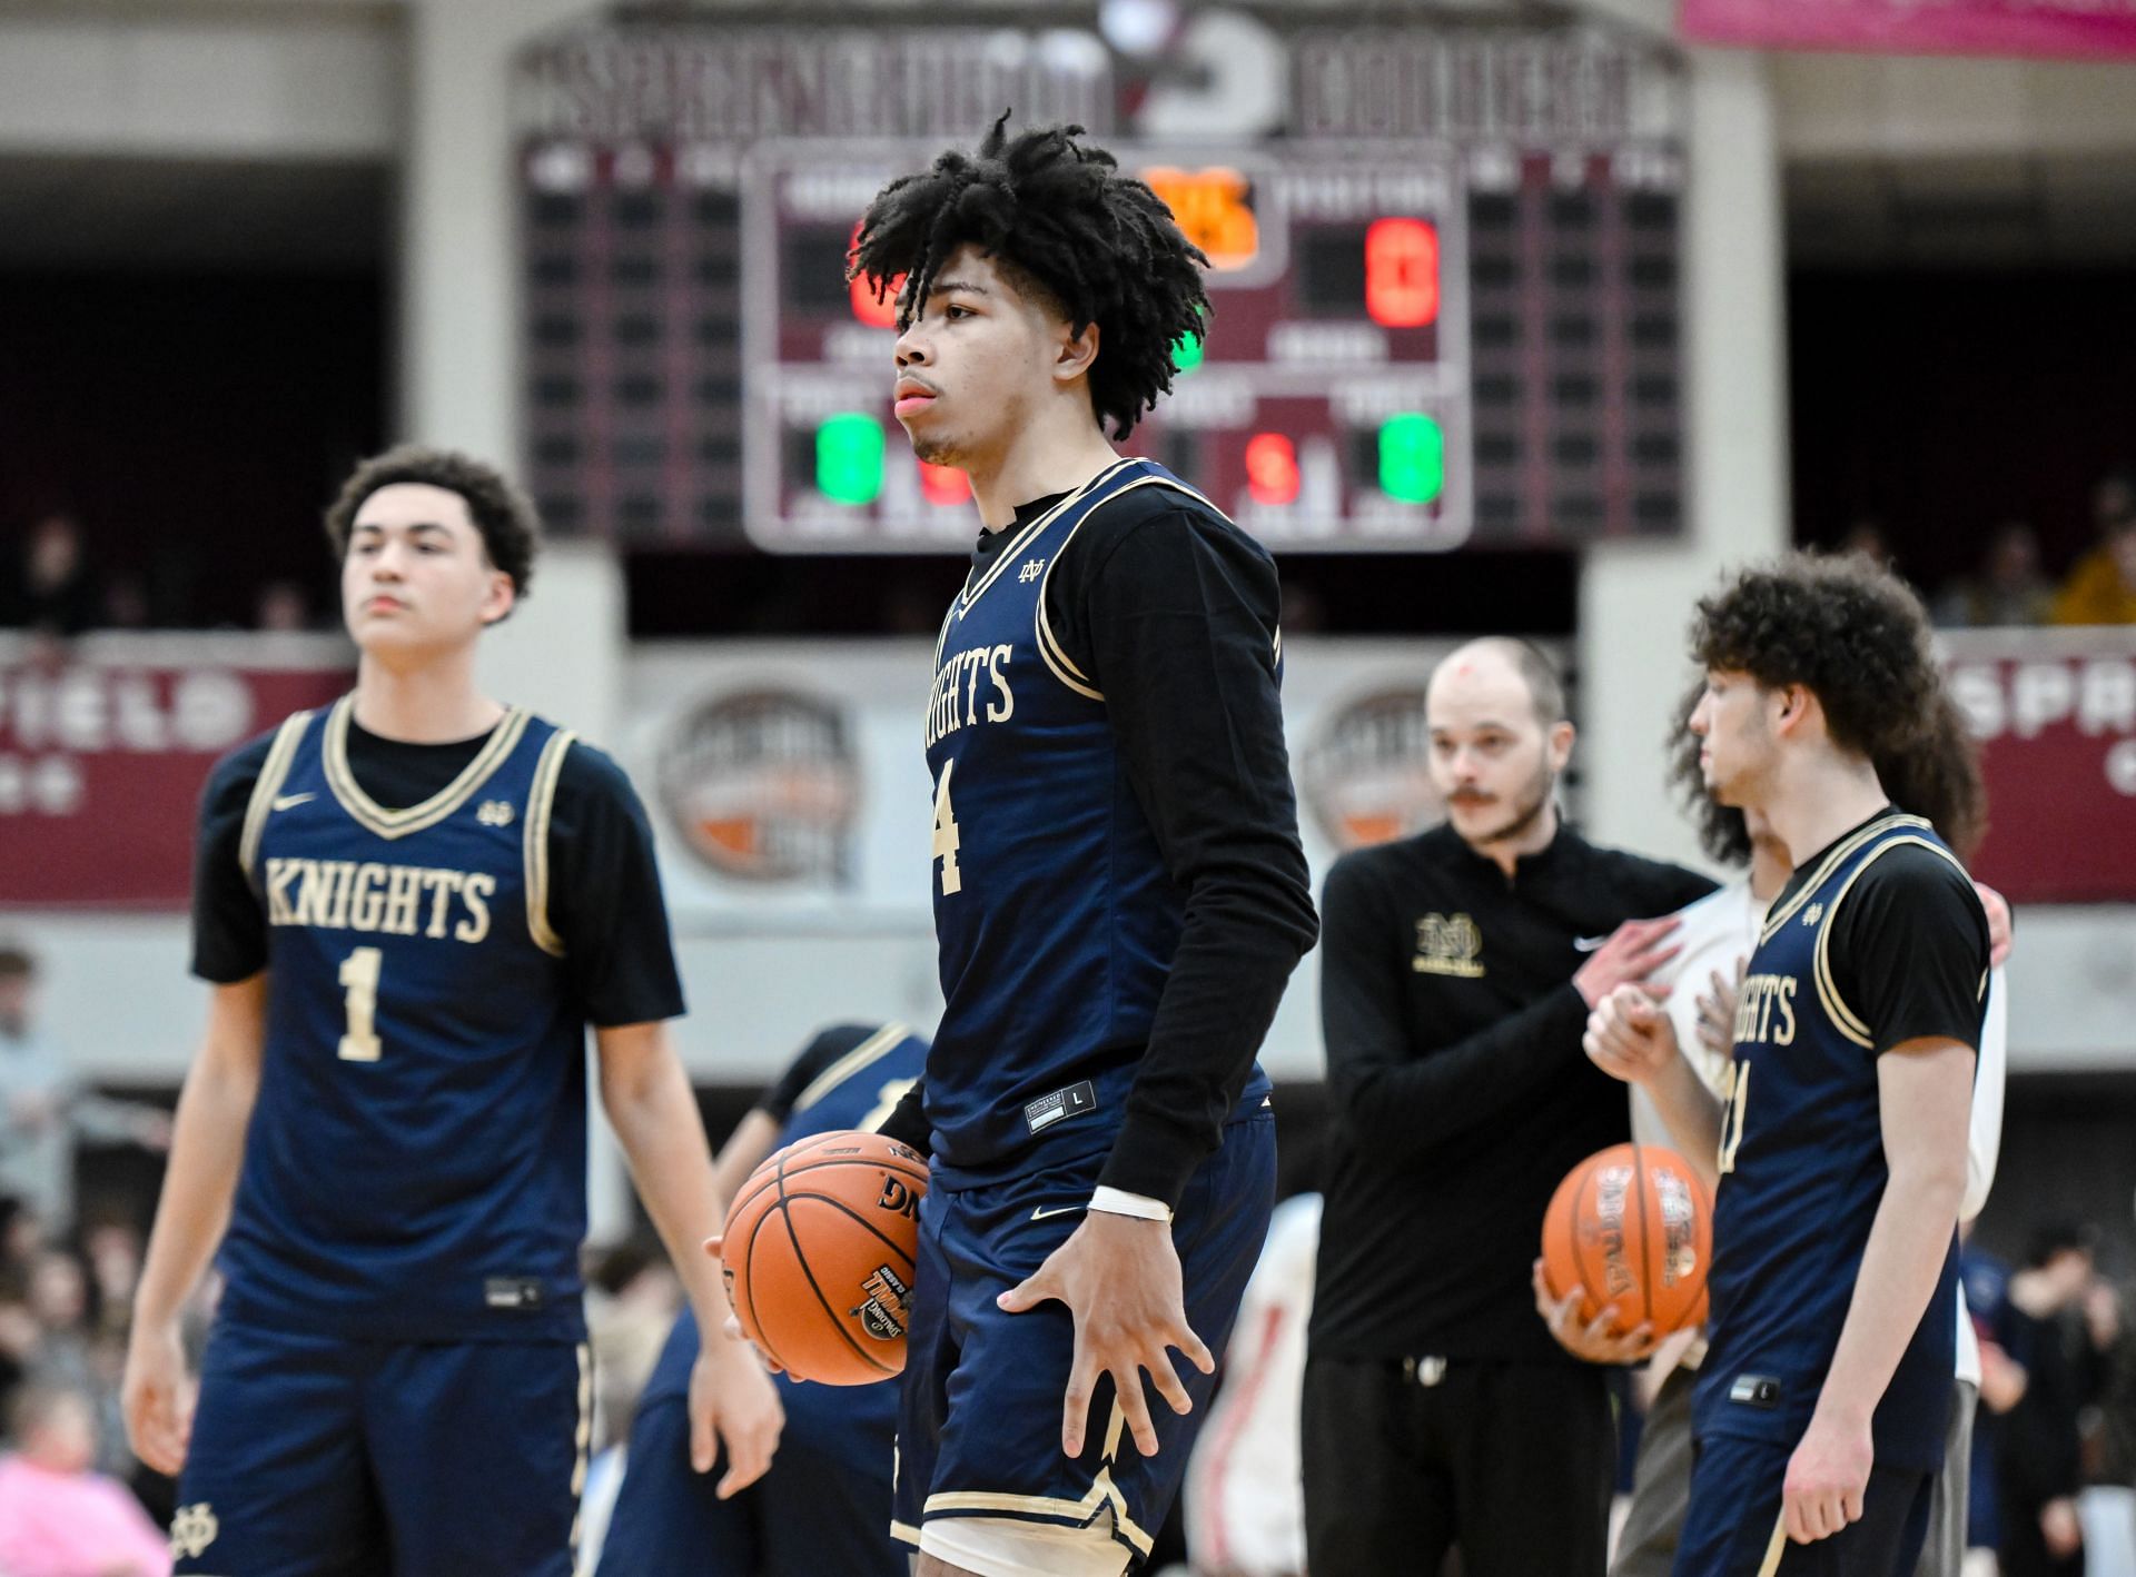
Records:
<instances>
[{"instance_id":1,"label":"maroon banner with white FIELD lettering, behind number 1 player","mask_svg":"<svg viewBox=\"0 0 2136 1577\"><path fill-rule=\"evenodd\" d=\"M9 638L0 905L184 909L207 768L348 681L337 638Z\"/></svg>"}]
</instances>

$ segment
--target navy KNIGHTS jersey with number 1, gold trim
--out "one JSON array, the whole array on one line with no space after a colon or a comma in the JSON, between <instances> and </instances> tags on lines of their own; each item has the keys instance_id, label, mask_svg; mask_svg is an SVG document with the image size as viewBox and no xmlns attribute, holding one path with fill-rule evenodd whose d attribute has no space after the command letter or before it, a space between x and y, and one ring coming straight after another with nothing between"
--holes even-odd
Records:
<instances>
[{"instance_id":1,"label":"navy KNIGHTS jersey with number 1, gold trim","mask_svg":"<svg viewBox=\"0 0 2136 1577\"><path fill-rule=\"evenodd\" d=\"M421 805L348 770L350 700L276 734L241 864L267 1044L222 1270L244 1323L577 1340L585 1020L549 926L572 734L508 711Z\"/></svg>"}]
</instances>

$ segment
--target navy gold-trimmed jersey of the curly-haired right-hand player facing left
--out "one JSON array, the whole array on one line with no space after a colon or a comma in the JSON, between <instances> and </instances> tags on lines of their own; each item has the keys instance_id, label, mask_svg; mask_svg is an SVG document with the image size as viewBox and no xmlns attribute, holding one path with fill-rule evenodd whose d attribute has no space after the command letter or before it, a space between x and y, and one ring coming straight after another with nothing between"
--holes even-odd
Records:
<instances>
[{"instance_id":1,"label":"navy gold-trimmed jersey of the curly-haired right-hand player facing left","mask_svg":"<svg viewBox=\"0 0 2136 1577\"><path fill-rule=\"evenodd\" d=\"M1925 819L1884 813L1790 883L1752 954L1724 1086L1700 1434L1792 1445L1839 1347L1890 1174L1878 1026L1839 994L1833 922L1863 873L1907 847L1959 864ZM1957 1231L1875 1411L1878 1464L1929 1470L1942 1462L1957 1361L1954 1278Z\"/></svg>"}]
</instances>

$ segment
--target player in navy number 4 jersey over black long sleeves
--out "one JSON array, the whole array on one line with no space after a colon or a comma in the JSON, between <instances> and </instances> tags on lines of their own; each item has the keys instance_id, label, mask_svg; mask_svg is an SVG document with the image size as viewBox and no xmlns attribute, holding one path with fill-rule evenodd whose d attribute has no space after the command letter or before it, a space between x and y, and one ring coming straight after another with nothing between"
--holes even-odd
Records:
<instances>
[{"instance_id":1,"label":"player in navy number 4 jersey over black long sleeves","mask_svg":"<svg viewBox=\"0 0 2136 1577\"><path fill-rule=\"evenodd\" d=\"M895 1532L923 1577L1117 1577L1269 1225L1254 1054L1316 918L1275 563L1113 448L1207 258L1081 128L1006 124L886 186L852 256L899 292L895 414L983 525L925 719L946 1009L884 1125L933 1167Z\"/></svg>"}]
</instances>

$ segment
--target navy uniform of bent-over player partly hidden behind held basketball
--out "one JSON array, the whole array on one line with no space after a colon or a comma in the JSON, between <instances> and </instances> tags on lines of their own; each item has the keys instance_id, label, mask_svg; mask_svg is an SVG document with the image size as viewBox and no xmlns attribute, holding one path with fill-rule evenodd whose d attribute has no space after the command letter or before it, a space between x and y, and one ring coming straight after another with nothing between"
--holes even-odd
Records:
<instances>
[{"instance_id":1,"label":"navy uniform of bent-over player partly hidden behind held basketball","mask_svg":"<svg viewBox=\"0 0 2136 1577\"><path fill-rule=\"evenodd\" d=\"M784 1118L782 1148L874 1129L925 1061L927 1041L904 1024L827 1029L758 1110ZM891 1539L897 1387L778 1374L786 1430L771 1470L720 1500L724 1468L690 1468L696 1353L696 1317L684 1308L639 1396L600 1577L906 1577L906 1551Z\"/></svg>"}]
</instances>

